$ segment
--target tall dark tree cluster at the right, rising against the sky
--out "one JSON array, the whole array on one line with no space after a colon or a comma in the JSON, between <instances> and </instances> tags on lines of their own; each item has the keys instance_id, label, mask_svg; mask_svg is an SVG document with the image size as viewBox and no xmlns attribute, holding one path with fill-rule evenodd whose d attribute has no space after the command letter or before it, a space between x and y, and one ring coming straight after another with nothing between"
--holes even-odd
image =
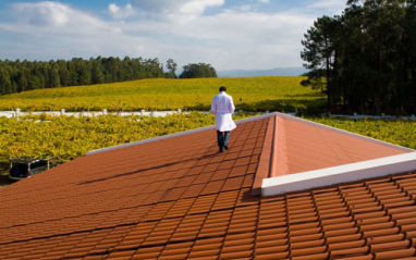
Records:
<instances>
[{"instance_id":1,"label":"tall dark tree cluster at the right, rising against the sky","mask_svg":"<svg viewBox=\"0 0 416 260\"><path fill-rule=\"evenodd\" d=\"M329 112L416 113L415 0L348 0L304 36L303 84L328 94Z\"/></svg>"}]
</instances>

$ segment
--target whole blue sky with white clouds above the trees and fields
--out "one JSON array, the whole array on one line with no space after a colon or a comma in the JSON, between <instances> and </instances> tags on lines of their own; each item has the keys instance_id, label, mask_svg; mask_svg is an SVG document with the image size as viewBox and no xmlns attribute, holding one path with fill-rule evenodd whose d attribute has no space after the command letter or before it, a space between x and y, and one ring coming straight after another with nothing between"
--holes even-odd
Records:
<instances>
[{"instance_id":1,"label":"whole blue sky with white clouds above the trees and fields","mask_svg":"<svg viewBox=\"0 0 416 260\"><path fill-rule=\"evenodd\" d=\"M302 66L301 40L346 0L2 0L0 59L129 55L217 71Z\"/></svg>"}]
</instances>

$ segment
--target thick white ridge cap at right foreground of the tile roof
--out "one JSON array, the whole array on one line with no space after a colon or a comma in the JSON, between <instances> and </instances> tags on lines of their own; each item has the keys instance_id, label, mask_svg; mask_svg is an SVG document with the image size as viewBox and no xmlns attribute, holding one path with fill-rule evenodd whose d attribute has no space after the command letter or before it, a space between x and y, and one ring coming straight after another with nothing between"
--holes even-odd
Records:
<instances>
[{"instance_id":1,"label":"thick white ridge cap at right foreground of the tile roof","mask_svg":"<svg viewBox=\"0 0 416 260\"><path fill-rule=\"evenodd\" d=\"M281 195L409 171L416 171L416 152L264 178L261 195Z\"/></svg>"}]
</instances>

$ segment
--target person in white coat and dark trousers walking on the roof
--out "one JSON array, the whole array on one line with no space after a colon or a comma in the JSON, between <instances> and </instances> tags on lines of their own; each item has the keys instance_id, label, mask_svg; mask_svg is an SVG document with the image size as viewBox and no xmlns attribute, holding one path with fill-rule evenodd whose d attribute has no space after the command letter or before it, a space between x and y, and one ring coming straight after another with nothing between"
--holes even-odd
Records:
<instances>
[{"instance_id":1,"label":"person in white coat and dark trousers walking on the roof","mask_svg":"<svg viewBox=\"0 0 416 260\"><path fill-rule=\"evenodd\" d=\"M215 96L211 111L216 115L217 140L220 152L229 149L230 132L236 127L231 115L235 110L233 98L227 95L227 88L220 87L220 94Z\"/></svg>"}]
</instances>

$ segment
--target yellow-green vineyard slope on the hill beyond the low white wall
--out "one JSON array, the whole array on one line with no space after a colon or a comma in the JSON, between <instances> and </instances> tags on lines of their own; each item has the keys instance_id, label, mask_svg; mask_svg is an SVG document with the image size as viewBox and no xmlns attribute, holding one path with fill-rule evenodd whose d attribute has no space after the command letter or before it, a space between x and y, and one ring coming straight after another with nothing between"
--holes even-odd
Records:
<instances>
[{"instance_id":1,"label":"yellow-green vineyard slope on the hill beyond the low white wall","mask_svg":"<svg viewBox=\"0 0 416 260\"><path fill-rule=\"evenodd\" d=\"M0 110L49 111L207 111L220 86L237 110L315 113L325 95L301 86L304 77L152 78L124 83L62 87L0 96Z\"/></svg>"}]
</instances>

